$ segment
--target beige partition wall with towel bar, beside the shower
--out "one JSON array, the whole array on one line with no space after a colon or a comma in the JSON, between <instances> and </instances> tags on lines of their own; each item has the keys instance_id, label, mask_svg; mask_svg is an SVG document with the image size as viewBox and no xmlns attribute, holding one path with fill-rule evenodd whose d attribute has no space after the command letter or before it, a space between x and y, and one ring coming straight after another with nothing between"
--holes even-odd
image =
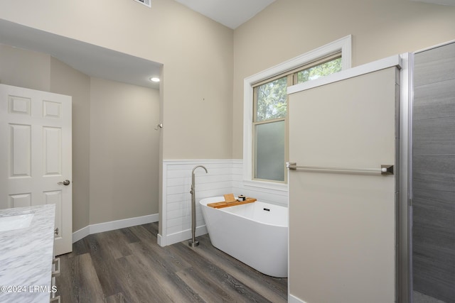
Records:
<instances>
[{"instance_id":1,"label":"beige partition wall with towel bar, beside the shower","mask_svg":"<svg viewBox=\"0 0 455 303\"><path fill-rule=\"evenodd\" d=\"M297 166L395 165L397 68L289 95ZM395 175L289 170L289 292L306 303L395 302Z\"/></svg>"}]
</instances>

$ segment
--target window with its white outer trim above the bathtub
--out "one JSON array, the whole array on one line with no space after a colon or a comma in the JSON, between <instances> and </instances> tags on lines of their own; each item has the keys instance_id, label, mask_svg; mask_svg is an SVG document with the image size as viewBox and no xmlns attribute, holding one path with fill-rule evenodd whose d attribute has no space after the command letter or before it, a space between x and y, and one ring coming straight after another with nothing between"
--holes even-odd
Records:
<instances>
[{"instance_id":1,"label":"window with its white outer trim above the bathtub","mask_svg":"<svg viewBox=\"0 0 455 303\"><path fill-rule=\"evenodd\" d=\"M287 87L350 67L350 35L244 82L244 181L287 189Z\"/></svg>"}]
</instances>

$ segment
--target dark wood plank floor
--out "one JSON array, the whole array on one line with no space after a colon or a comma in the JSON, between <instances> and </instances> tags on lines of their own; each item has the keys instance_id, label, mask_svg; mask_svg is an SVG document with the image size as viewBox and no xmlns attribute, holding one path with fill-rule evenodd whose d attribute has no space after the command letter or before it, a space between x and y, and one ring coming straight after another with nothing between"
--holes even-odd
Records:
<instances>
[{"instance_id":1,"label":"dark wood plank floor","mask_svg":"<svg viewBox=\"0 0 455 303\"><path fill-rule=\"evenodd\" d=\"M287 302L287 279L214 248L208 235L161 247L158 224L95 233L60 255L61 302Z\"/></svg>"}]
</instances>

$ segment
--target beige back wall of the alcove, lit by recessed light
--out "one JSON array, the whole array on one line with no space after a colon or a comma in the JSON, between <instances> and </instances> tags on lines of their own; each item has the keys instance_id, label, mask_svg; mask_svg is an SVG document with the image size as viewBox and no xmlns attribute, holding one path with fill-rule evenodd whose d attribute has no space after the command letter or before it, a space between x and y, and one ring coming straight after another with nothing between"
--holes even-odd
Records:
<instances>
[{"instance_id":1,"label":"beige back wall of the alcove, lit by recessed light","mask_svg":"<svg viewBox=\"0 0 455 303\"><path fill-rule=\"evenodd\" d=\"M159 91L90 80L90 224L158 213Z\"/></svg>"}]
</instances>

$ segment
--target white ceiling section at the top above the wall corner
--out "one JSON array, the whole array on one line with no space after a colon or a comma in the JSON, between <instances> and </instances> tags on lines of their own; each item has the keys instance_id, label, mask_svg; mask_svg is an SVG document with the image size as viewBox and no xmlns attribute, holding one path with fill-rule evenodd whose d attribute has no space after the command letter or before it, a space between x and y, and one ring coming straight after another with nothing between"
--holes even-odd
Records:
<instances>
[{"instance_id":1,"label":"white ceiling section at the top above the wall corner","mask_svg":"<svg viewBox=\"0 0 455 303\"><path fill-rule=\"evenodd\" d=\"M275 0L176 0L228 28L235 29ZM153 8L153 4L152 4Z\"/></svg>"}]
</instances>

